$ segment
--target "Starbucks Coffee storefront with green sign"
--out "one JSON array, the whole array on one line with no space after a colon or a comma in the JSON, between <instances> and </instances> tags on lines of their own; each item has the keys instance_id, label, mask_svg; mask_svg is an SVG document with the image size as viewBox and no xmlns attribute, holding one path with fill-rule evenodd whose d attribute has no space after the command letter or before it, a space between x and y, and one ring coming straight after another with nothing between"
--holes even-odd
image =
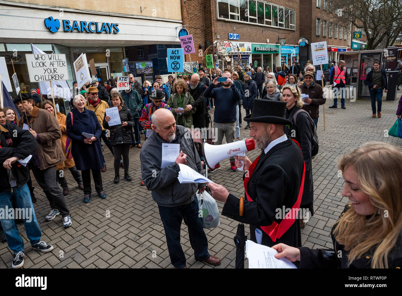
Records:
<instances>
[{"instance_id":1,"label":"Starbucks Coffee storefront with green sign","mask_svg":"<svg viewBox=\"0 0 402 296\"><path fill-rule=\"evenodd\" d=\"M254 44L251 45L251 61L254 67L261 67L263 71L267 66L273 71L273 67L280 66L280 46L276 44Z\"/></svg>"}]
</instances>

